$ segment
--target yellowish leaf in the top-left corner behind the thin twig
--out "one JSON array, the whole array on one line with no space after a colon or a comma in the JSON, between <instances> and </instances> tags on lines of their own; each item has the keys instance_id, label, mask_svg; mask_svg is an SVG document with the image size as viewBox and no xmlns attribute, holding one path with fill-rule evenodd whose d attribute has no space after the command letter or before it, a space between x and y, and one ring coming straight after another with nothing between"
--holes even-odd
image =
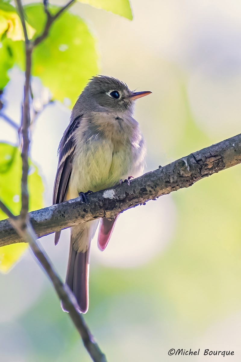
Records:
<instances>
[{"instance_id":1,"label":"yellowish leaf in the top-left corner behind the thin twig","mask_svg":"<svg viewBox=\"0 0 241 362\"><path fill-rule=\"evenodd\" d=\"M35 30L27 22L26 29L29 39L33 38ZM14 41L24 40L21 20L16 9L12 5L0 1L0 37L3 34Z\"/></svg>"}]
</instances>

